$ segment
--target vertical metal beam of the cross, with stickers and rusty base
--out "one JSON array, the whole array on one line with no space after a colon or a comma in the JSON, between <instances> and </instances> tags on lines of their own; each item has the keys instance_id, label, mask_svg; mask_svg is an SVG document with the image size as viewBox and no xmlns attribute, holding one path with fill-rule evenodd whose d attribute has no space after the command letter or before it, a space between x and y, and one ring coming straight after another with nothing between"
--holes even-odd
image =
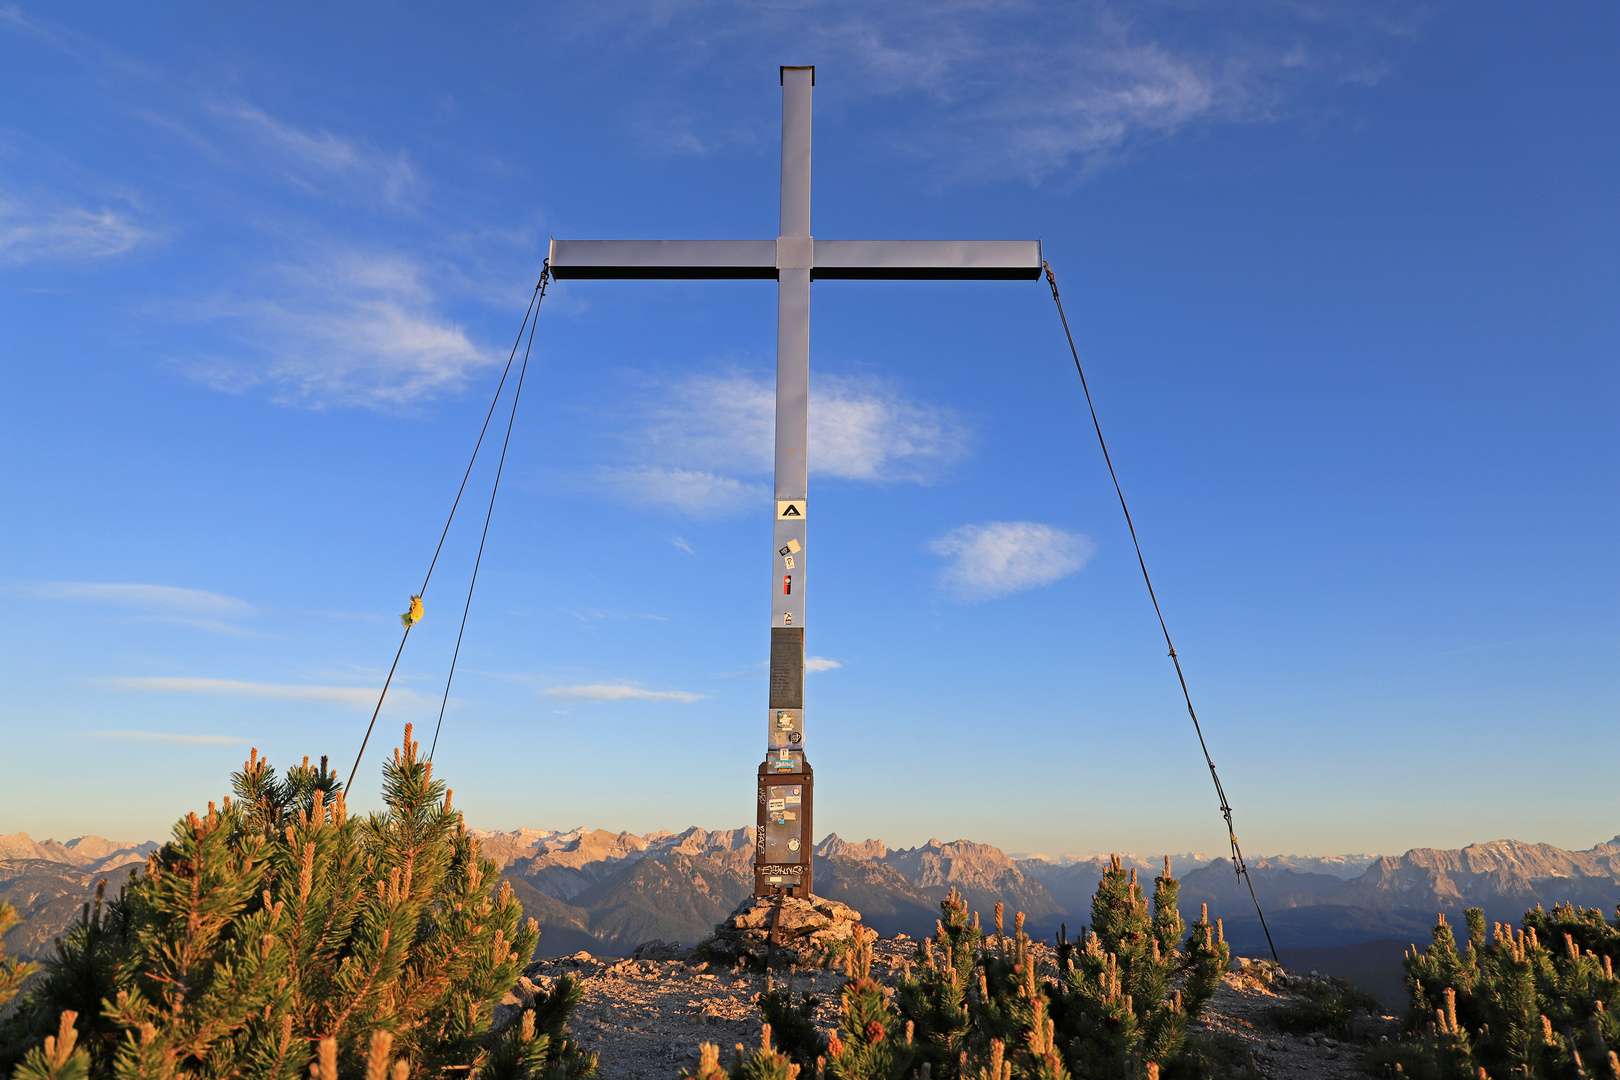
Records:
<instances>
[{"instance_id":1,"label":"vertical metal beam of the cross, with stickers and rusty base","mask_svg":"<svg viewBox=\"0 0 1620 1080\"><path fill-rule=\"evenodd\" d=\"M810 89L782 68L782 217L776 238L776 523L771 529L771 677L760 766L753 891L808 895L813 774L804 755L805 531L810 436Z\"/></svg>"}]
</instances>

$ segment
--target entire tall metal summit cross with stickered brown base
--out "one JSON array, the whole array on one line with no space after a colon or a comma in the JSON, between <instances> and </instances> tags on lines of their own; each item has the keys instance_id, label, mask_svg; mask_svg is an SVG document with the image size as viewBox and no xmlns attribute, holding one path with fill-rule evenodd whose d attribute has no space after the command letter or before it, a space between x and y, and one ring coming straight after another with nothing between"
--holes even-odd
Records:
<instances>
[{"instance_id":1,"label":"entire tall metal summit cross with stickered brown base","mask_svg":"<svg viewBox=\"0 0 1620 1080\"><path fill-rule=\"evenodd\" d=\"M776 240L552 240L551 274L776 279L776 528L771 538L771 688L760 766L755 895L812 887L812 785L804 659L808 539L810 282L816 279L1040 279L1037 240L815 240L810 91L815 68L782 70L782 222Z\"/></svg>"}]
</instances>

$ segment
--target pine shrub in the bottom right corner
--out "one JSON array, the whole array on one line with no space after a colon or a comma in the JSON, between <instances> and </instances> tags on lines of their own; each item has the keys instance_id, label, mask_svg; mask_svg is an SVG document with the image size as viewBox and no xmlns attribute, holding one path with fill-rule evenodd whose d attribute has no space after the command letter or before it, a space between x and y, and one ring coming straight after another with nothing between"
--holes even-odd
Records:
<instances>
[{"instance_id":1,"label":"pine shrub in the bottom right corner","mask_svg":"<svg viewBox=\"0 0 1620 1080\"><path fill-rule=\"evenodd\" d=\"M1408 1036L1382 1056L1414 1080L1620 1077L1620 912L1536 905L1489 934L1482 910L1464 920L1466 947L1442 915L1406 954Z\"/></svg>"}]
</instances>

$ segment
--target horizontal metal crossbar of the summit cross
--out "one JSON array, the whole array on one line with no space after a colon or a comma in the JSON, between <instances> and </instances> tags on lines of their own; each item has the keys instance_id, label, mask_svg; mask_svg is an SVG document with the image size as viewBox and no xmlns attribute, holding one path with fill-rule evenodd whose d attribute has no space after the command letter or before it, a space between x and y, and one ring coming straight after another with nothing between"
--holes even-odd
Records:
<instances>
[{"instance_id":1,"label":"horizontal metal crossbar of the summit cross","mask_svg":"<svg viewBox=\"0 0 1620 1080\"><path fill-rule=\"evenodd\" d=\"M1038 240L816 240L812 279L1035 280ZM804 266L786 262L784 266ZM776 279L774 240L552 240L557 279Z\"/></svg>"}]
</instances>

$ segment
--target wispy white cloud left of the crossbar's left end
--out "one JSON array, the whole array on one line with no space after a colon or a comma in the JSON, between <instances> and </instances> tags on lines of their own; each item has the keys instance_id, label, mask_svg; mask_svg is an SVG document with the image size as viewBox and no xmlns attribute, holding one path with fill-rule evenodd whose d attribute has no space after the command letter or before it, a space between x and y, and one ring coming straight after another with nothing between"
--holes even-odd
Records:
<instances>
[{"instance_id":1,"label":"wispy white cloud left of the crossbar's left end","mask_svg":"<svg viewBox=\"0 0 1620 1080\"><path fill-rule=\"evenodd\" d=\"M423 269L390 253L330 251L279 267L264 295L173 306L233 348L180 361L222 390L267 387L282 403L402 408L458 390L499 358L436 311Z\"/></svg>"}]
</instances>

